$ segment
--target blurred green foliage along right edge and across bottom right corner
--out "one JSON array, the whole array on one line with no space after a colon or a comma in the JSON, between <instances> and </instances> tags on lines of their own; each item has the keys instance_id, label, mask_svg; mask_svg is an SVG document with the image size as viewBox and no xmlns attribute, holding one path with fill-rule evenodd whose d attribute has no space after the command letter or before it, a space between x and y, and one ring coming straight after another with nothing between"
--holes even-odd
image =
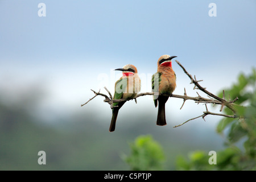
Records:
<instances>
[{"instance_id":1,"label":"blurred green foliage along right edge and across bottom right corner","mask_svg":"<svg viewBox=\"0 0 256 182\"><path fill-rule=\"evenodd\" d=\"M185 159L179 156L176 167L179 170L256 170L256 71L249 76L240 74L238 81L225 93L230 99L238 97L235 108L241 118L223 118L217 125L217 133L226 138L225 150L217 151L217 164L209 164L210 156L204 151L195 151ZM222 97L222 92L218 94ZM228 100L228 98L226 98ZM228 108L225 114L233 114ZM238 147L243 142L243 147Z\"/></svg>"}]
</instances>

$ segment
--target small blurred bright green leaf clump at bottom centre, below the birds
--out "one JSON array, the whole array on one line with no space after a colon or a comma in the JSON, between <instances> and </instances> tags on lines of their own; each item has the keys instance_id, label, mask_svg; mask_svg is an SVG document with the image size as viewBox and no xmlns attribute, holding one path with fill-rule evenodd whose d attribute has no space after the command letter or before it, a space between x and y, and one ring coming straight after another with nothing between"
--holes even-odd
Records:
<instances>
[{"instance_id":1,"label":"small blurred bright green leaf clump at bottom centre, below the birds","mask_svg":"<svg viewBox=\"0 0 256 182\"><path fill-rule=\"evenodd\" d=\"M131 154L123 160L129 164L131 170L148 171L162 170L164 154L162 147L150 135L139 136L130 143Z\"/></svg>"}]
</instances>

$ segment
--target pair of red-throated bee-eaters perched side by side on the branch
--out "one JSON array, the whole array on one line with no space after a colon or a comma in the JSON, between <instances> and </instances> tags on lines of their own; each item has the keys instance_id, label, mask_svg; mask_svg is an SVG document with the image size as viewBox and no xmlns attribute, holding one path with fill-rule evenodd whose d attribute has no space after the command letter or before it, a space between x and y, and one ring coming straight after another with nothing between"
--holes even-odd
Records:
<instances>
[{"instance_id":1,"label":"pair of red-throated bee-eaters perched side by side on the branch","mask_svg":"<svg viewBox=\"0 0 256 182\"><path fill-rule=\"evenodd\" d=\"M152 92L160 94L172 94L176 88L176 75L172 69L171 60L177 56L163 55L158 59L158 71L152 75ZM129 99L137 96L141 90L141 79L138 76L137 68L134 65L127 64L123 68L115 69L122 71L123 76L115 82L114 100L117 99ZM158 106L158 117L156 125L166 125L166 112L165 105L168 100L168 96L154 95L153 100L155 107ZM119 109L125 104L124 102L115 102L112 109L112 119L109 127L109 131L115 130L115 122L117 121L117 115Z\"/></svg>"}]
</instances>

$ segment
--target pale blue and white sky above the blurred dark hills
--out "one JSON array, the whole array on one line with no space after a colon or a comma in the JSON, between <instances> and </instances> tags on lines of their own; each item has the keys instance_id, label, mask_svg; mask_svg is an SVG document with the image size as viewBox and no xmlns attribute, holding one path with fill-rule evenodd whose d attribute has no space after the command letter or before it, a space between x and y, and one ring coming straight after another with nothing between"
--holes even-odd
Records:
<instances>
[{"instance_id":1,"label":"pale blue and white sky above the blurred dark hills","mask_svg":"<svg viewBox=\"0 0 256 182\"><path fill-rule=\"evenodd\" d=\"M46 4L46 17L38 4ZM217 5L210 17L209 3ZM239 73L255 67L256 1L11 1L0 0L0 89L7 103L22 100L31 89L41 98L39 115L65 115L96 107L106 118L109 105L90 89L114 92L121 73L113 69L134 64L142 92L151 91L151 75L161 55L176 59L212 93L232 85ZM189 78L173 61L174 94L197 96ZM39 91L38 91L39 92ZM42 96L40 95L42 94ZM204 95L202 95L204 96ZM152 97L129 102L127 109L157 112ZM196 117L188 102L171 98L172 117ZM198 114L204 109L199 106ZM168 115L168 113L167 113ZM182 120L181 119L181 120ZM109 122L108 121L108 122ZM173 123L176 125L179 123Z\"/></svg>"}]
</instances>

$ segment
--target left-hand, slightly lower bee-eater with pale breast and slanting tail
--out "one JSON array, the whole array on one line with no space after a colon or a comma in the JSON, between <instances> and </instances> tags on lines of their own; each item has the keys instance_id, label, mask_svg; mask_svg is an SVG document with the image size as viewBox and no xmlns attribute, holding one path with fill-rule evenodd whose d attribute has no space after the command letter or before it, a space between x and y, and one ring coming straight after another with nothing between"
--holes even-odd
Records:
<instances>
[{"instance_id":1,"label":"left-hand, slightly lower bee-eater with pale breast and slanting tail","mask_svg":"<svg viewBox=\"0 0 256 182\"><path fill-rule=\"evenodd\" d=\"M127 64L123 68L118 68L115 70L122 71L123 76L115 82L115 93L114 100L121 98L129 99L137 96L138 92L141 90L141 79L138 76L137 68L134 65ZM123 102L114 102L112 109L112 119L109 127L109 131L112 132L115 130L115 122L117 121L117 114L119 109L125 104Z\"/></svg>"}]
</instances>

